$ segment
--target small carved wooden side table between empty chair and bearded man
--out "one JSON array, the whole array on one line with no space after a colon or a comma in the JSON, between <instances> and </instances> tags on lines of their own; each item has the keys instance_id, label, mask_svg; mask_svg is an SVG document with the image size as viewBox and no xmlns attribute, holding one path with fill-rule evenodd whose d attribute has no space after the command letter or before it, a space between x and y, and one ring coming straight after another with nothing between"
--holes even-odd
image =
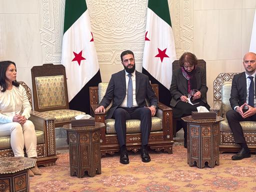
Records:
<instances>
[{"instance_id":1,"label":"small carved wooden side table between empty chair and bearded man","mask_svg":"<svg viewBox=\"0 0 256 192\"><path fill-rule=\"evenodd\" d=\"M81 178L85 171L91 177L101 174L99 129L104 126L102 122L95 122L95 126L63 126L69 143L70 176Z\"/></svg>"}]
</instances>

